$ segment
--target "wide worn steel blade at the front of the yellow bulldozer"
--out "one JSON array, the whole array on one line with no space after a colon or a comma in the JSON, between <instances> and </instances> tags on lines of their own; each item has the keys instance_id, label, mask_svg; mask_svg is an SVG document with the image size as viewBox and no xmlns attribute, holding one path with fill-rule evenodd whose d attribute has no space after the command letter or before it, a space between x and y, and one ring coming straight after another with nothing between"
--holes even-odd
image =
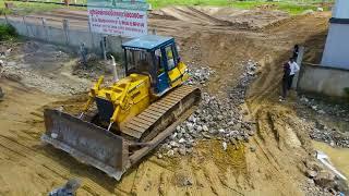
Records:
<instances>
[{"instance_id":1,"label":"wide worn steel blade at the front of the yellow bulldozer","mask_svg":"<svg viewBox=\"0 0 349 196\"><path fill-rule=\"evenodd\" d=\"M130 167L129 145L122 137L58 110L47 109L44 115L44 142L118 181Z\"/></svg>"}]
</instances>

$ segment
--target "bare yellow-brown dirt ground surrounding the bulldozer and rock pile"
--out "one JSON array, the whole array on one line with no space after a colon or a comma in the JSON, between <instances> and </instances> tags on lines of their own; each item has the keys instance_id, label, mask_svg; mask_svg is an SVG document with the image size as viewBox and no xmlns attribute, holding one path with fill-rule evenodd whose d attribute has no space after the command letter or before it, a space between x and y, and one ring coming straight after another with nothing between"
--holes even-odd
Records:
<instances>
[{"instance_id":1,"label":"bare yellow-brown dirt ground surrounding the bulldozer and rock pile","mask_svg":"<svg viewBox=\"0 0 349 196\"><path fill-rule=\"evenodd\" d=\"M304 195L300 183L310 148L306 127L300 126L292 105L277 103L279 72L294 44L317 52L328 16L297 16L260 30L151 20L159 33L178 38L191 66L216 71L206 86L210 94L227 96L242 74L241 61L260 62L261 74L250 86L245 106L257 134L227 151L219 140L203 140L189 157L149 155L121 182L39 142L43 107L69 103L74 109L80 98L62 99L1 79L7 97L0 102L0 195L44 195L70 177L82 180L79 195Z\"/></svg>"}]
</instances>

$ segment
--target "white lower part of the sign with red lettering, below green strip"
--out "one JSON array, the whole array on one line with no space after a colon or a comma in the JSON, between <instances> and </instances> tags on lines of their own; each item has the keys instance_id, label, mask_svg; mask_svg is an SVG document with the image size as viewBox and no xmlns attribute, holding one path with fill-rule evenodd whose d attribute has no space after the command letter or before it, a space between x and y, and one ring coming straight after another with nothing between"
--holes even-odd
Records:
<instances>
[{"instance_id":1,"label":"white lower part of the sign with red lettering, below green strip","mask_svg":"<svg viewBox=\"0 0 349 196\"><path fill-rule=\"evenodd\" d=\"M146 11L88 8L88 19L95 33L140 37L148 30Z\"/></svg>"}]
</instances>

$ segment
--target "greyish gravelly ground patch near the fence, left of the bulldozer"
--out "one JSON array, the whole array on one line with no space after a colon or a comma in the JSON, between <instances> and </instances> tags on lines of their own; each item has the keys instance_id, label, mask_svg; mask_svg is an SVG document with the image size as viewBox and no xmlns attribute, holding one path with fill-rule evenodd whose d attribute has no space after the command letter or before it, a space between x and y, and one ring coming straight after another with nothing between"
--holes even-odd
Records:
<instances>
[{"instance_id":1,"label":"greyish gravelly ground patch near the fence, left of the bulldozer","mask_svg":"<svg viewBox=\"0 0 349 196\"><path fill-rule=\"evenodd\" d=\"M64 70L64 64L72 60L69 53L48 44L27 41L22 45L1 57L3 77L51 95L88 90L87 81L74 78L69 69Z\"/></svg>"}]
</instances>

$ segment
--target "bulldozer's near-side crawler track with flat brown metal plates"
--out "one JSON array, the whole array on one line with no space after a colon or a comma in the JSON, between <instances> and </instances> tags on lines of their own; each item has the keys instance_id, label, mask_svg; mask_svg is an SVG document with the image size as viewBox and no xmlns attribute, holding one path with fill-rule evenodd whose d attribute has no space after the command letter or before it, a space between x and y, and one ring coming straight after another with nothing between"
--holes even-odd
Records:
<instances>
[{"instance_id":1,"label":"bulldozer's near-side crawler track with flat brown metal plates","mask_svg":"<svg viewBox=\"0 0 349 196\"><path fill-rule=\"evenodd\" d=\"M136 139L141 139L145 132L154 128L155 124L160 123L164 118L170 115L171 111L174 110L184 98L195 96L194 91L196 89L195 87L186 85L178 87L164 98L151 105L145 111L125 122L121 127L121 132Z\"/></svg>"}]
</instances>

